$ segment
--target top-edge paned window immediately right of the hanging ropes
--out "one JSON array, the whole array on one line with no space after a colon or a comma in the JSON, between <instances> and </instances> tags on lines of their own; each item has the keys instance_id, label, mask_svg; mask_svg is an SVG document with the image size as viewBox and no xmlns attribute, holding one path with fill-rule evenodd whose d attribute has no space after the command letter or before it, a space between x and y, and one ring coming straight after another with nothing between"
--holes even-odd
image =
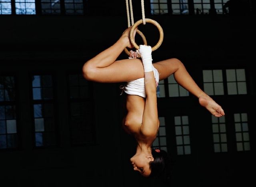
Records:
<instances>
[{"instance_id":1,"label":"top-edge paned window immediately right of the hanging ropes","mask_svg":"<svg viewBox=\"0 0 256 187\"><path fill-rule=\"evenodd\" d=\"M167 0L150 0L151 14L167 14Z\"/></svg>"}]
</instances>

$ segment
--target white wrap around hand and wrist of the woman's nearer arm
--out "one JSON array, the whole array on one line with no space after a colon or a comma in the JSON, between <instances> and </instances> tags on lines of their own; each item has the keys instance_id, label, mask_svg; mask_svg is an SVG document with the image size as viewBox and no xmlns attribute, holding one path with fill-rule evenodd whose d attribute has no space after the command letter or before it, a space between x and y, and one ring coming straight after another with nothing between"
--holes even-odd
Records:
<instances>
[{"instance_id":1,"label":"white wrap around hand and wrist of the woman's nearer arm","mask_svg":"<svg viewBox=\"0 0 256 187\"><path fill-rule=\"evenodd\" d=\"M151 72L153 71L153 65L152 65L152 48L151 46L146 45L140 45L140 56L142 59L142 64L144 67L144 72Z\"/></svg>"}]
</instances>

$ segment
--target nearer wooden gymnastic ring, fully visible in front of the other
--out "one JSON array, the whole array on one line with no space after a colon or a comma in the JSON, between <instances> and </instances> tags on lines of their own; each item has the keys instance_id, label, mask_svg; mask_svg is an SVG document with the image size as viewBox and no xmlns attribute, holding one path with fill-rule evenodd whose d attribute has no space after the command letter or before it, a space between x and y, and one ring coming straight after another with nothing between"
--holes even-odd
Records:
<instances>
[{"instance_id":1,"label":"nearer wooden gymnastic ring, fully visible in front of the other","mask_svg":"<svg viewBox=\"0 0 256 187\"><path fill-rule=\"evenodd\" d=\"M160 45L162 44L163 39L164 39L164 32L163 32L163 29L160 26L160 24L158 22L156 22L155 20L146 18L145 21L147 23L152 23L153 25L155 25L158 28L159 33L160 33L160 38L159 38L157 44L154 47L152 47L152 51L154 51L157 48L159 48ZM132 45L134 46L134 48L136 48L136 49L139 49L140 47L135 43L134 37L133 37L132 33L134 33L135 28L137 28L138 25L140 25L141 23L142 23L142 20L138 20L136 23L133 24L133 26L132 26L132 28L130 30L130 41L131 41Z\"/></svg>"}]
</instances>

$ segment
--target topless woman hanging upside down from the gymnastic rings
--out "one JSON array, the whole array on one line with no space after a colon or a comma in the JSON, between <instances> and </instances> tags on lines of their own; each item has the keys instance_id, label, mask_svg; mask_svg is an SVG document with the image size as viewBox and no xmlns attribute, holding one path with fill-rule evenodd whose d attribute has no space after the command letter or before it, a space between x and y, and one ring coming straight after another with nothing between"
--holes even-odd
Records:
<instances>
[{"instance_id":1,"label":"topless woman hanging upside down from the gymnastic rings","mask_svg":"<svg viewBox=\"0 0 256 187\"><path fill-rule=\"evenodd\" d=\"M182 62L176 58L152 64L151 47L140 45L137 52L130 52L130 59L116 61L125 48L133 47L129 39L130 29L126 29L112 46L88 60L82 68L83 76L86 80L101 83L127 82L123 88L127 94L127 115L122 125L137 141L136 153L130 158L132 167L144 177L168 177L168 154L164 150L152 149L160 123L156 97L158 82L174 74L176 82L198 97L200 105L212 115L221 117L225 113L198 87ZM135 33L136 29L134 36Z\"/></svg>"}]
</instances>

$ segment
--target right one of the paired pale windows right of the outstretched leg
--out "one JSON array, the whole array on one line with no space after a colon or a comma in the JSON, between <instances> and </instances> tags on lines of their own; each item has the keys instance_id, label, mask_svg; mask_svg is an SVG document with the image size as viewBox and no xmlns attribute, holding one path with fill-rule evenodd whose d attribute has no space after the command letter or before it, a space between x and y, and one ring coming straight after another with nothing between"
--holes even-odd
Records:
<instances>
[{"instance_id":1,"label":"right one of the paired pale windows right of the outstretched leg","mask_svg":"<svg viewBox=\"0 0 256 187\"><path fill-rule=\"evenodd\" d=\"M226 70L228 95L247 94L244 69Z\"/></svg>"}]
</instances>

